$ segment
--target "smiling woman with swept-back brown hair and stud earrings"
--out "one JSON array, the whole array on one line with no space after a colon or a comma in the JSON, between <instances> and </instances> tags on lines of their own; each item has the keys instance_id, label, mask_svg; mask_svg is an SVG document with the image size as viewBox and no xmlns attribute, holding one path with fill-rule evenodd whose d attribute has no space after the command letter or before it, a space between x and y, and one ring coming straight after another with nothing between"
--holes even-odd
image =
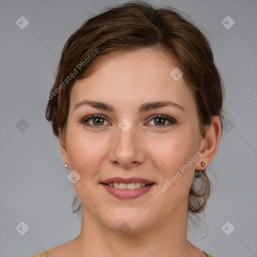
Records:
<instances>
[{"instance_id":1,"label":"smiling woman with swept-back brown hair and stud earrings","mask_svg":"<svg viewBox=\"0 0 257 257\"><path fill-rule=\"evenodd\" d=\"M222 80L199 29L173 8L109 8L68 39L48 99L82 225L33 256L212 256L187 239L188 217L210 193L205 169L223 118Z\"/></svg>"}]
</instances>

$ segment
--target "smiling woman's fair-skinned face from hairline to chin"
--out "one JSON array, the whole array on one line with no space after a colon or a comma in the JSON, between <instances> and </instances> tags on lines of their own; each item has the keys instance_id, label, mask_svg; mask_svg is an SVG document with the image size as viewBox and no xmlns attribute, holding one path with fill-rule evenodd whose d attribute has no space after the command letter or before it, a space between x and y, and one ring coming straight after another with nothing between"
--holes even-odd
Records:
<instances>
[{"instance_id":1,"label":"smiling woman's fair-skinned face from hairline to chin","mask_svg":"<svg viewBox=\"0 0 257 257\"><path fill-rule=\"evenodd\" d=\"M62 157L80 176L83 212L110 229L126 222L139 232L187 216L203 139L192 90L170 75L176 67L146 48L97 60L96 72L72 87ZM115 177L134 178L119 188L142 188L102 184Z\"/></svg>"}]
</instances>

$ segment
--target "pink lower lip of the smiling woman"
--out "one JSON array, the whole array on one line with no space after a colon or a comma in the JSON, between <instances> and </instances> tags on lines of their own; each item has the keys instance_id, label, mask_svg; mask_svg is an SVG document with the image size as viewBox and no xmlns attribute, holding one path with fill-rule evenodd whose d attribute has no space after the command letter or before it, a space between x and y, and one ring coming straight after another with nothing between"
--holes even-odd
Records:
<instances>
[{"instance_id":1,"label":"pink lower lip of the smiling woman","mask_svg":"<svg viewBox=\"0 0 257 257\"><path fill-rule=\"evenodd\" d=\"M119 199L135 199L148 191L155 185L149 185L146 187L141 187L137 189L117 189L115 187L107 186L105 184L101 184L111 195L119 198Z\"/></svg>"}]
</instances>

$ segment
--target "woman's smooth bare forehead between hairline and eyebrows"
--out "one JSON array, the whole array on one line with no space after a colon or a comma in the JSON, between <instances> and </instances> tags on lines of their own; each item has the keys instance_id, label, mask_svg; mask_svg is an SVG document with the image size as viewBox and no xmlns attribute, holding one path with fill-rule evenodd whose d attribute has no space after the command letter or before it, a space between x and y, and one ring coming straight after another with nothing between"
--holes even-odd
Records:
<instances>
[{"instance_id":1,"label":"woman's smooth bare forehead between hairline and eyebrows","mask_svg":"<svg viewBox=\"0 0 257 257\"><path fill-rule=\"evenodd\" d=\"M171 100L190 107L194 105L193 91L183 76L176 81L170 75L177 66L167 53L151 48L99 58L91 67L94 73L74 83L70 105L83 99L136 105Z\"/></svg>"}]
</instances>

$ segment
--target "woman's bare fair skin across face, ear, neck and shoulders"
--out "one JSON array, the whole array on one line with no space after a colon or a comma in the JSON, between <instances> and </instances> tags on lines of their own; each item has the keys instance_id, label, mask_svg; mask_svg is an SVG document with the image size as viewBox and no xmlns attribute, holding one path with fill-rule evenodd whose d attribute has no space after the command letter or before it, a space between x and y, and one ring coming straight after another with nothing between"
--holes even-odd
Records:
<instances>
[{"instance_id":1,"label":"woman's bare fair skin across face, ear, neck and shoulders","mask_svg":"<svg viewBox=\"0 0 257 257\"><path fill-rule=\"evenodd\" d=\"M195 170L204 169L202 161L206 168L216 155L219 117L213 116L203 139L193 92L183 76L178 81L170 76L177 65L167 53L144 48L99 59L94 65L93 75L73 85L66 135L60 140L64 163L80 175L74 187L83 204L81 233L49 249L48 256L205 256L187 239L188 196ZM115 111L87 104L74 110L85 99L110 104ZM185 111L165 106L138 113L141 104L164 100ZM92 118L87 124L94 127L86 126L81 120L91 114L105 119ZM160 114L177 122L153 118ZM132 124L127 132L118 126L124 118ZM151 203L149 198L198 152L202 156ZM112 177L141 177L156 185L136 199L121 200L99 184ZM119 231L123 222L131 226L127 234Z\"/></svg>"}]
</instances>

